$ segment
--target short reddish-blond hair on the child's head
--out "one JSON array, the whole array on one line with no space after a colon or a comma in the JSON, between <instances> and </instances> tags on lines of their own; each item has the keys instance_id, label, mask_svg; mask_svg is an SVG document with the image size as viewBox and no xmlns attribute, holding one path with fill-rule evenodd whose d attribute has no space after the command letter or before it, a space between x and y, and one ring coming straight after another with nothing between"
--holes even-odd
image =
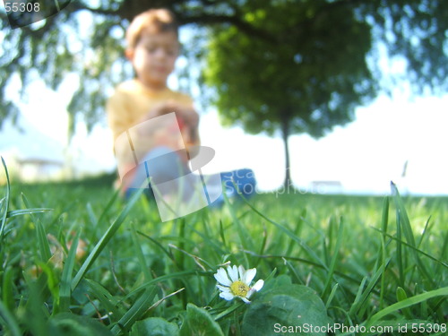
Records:
<instances>
[{"instance_id":1,"label":"short reddish-blond hair on the child's head","mask_svg":"<svg viewBox=\"0 0 448 336\"><path fill-rule=\"evenodd\" d=\"M126 30L127 46L134 48L142 37L142 31L151 34L173 31L178 36L178 24L174 13L165 8L150 9L134 17L133 22Z\"/></svg>"}]
</instances>

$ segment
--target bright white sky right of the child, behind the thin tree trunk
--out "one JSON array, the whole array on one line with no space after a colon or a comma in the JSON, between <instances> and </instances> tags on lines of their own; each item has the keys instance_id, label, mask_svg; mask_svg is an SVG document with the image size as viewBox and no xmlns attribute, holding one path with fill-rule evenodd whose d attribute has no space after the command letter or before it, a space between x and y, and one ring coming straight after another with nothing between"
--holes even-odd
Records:
<instances>
[{"instance_id":1,"label":"bright white sky right of the child, behind the thin tree trunk","mask_svg":"<svg viewBox=\"0 0 448 336\"><path fill-rule=\"evenodd\" d=\"M448 194L447 107L448 96L381 96L358 108L355 122L337 126L319 140L293 135L289 139L293 183L312 192L313 185L321 185L314 191L325 193L325 188L333 189L313 182L338 181L342 189L337 191L387 194L393 181L404 193ZM202 143L216 150L217 166L253 168L262 190L281 185L285 156L280 137L222 129L215 114L203 116L202 122ZM232 156L235 159L229 159Z\"/></svg>"}]
</instances>

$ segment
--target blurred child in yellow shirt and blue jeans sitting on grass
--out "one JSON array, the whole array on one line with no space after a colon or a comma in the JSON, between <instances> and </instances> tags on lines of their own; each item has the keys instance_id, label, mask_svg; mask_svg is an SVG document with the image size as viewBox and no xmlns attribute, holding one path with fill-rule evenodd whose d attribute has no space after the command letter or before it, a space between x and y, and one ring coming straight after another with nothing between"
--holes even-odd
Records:
<instances>
[{"instance_id":1,"label":"blurred child in yellow shirt and blue jeans sitting on grass","mask_svg":"<svg viewBox=\"0 0 448 336\"><path fill-rule=\"evenodd\" d=\"M151 177L151 185L157 185L185 176L194 146L200 144L199 116L193 100L167 86L180 49L173 13L153 9L137 15L126 31L126 40L125 56L134 66L136 77L118 85L107 104L125 193L141 187L147 177ZM232 181L244 182L241 192L254 194L251 170L220 176L230 191L235 192ZM188 194L188 188L185 190Z\"/></svg>"}]
</instances>

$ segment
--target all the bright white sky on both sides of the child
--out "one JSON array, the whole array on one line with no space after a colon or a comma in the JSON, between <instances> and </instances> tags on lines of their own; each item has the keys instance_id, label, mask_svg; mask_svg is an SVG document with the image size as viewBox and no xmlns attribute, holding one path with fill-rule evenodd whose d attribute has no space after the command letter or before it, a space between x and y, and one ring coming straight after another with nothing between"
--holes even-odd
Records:
<instances>
[{"instance_id":1,"label":"all the bright white sky on both sides of the child","mask_svg":"<svg viewBox=\"0 0 448 336\"><path fill-rule=\"evenodd\" d=\"M405 73L400 60L383 57L381 62L385 73ZM178 66L184 63L180 60ZM20 100L12 83L8 97L15 97L21 106L18 125L22 132L9 121L0 131L0 154L11 168L16 168L14 159L62 163L61 167L40 171L22 167L22 175L30 179L52 174L82 177L114 170L112 137L106 123L88 134L79 122L73 139L67 139L65 107L70 96L65 92L70 92L75 80L67 77L57 92L34 82L26 102ZM169 85L176 89L176 76L170 78ZM448 95L413 97L404 81L392 90L392 96L381 95L370 105L357 108L353 123L337 126L319 140L306 134L292 135L289 150L294 185L304 192L321 194L389 194L394 181L405 194L448 194L447 107ZM215 158L202 168L204 173L252 168L260 192L280 188L285 174L280 136L248 135L238 127L223 128L216 110L199 112L202 145L215 150ZM406 162L406 176L402 177ZM333 186L322 181L332 181Z\"/></svg>"}]
</instances>

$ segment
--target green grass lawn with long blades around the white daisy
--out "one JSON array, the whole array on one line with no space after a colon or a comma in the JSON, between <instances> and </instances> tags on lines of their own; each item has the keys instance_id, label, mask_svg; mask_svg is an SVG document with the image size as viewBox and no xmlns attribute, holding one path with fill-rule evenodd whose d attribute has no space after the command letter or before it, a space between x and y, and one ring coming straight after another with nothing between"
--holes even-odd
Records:
<instances>
[{"instance_id":1,"label":"green grass lawn with long blades around the white daisy","mask_svg":"<svg viewBox=\"0 0 448 336\"><path fill-rule=\"evenodd\" d=\"M289 310L321 303L326 322L364 334L445 334L443 197L258 194L161 223L155 203L124 201L109 183L3 190L0 335L261 334L256 318L295 326L306 321ZM266 280L250 305L218 296L213 274L228 261ZM267 297L293 302L289 291L297 304L283 316ZM260 305L271 315L254 317Z\"/></svg>"}]
</instances>

